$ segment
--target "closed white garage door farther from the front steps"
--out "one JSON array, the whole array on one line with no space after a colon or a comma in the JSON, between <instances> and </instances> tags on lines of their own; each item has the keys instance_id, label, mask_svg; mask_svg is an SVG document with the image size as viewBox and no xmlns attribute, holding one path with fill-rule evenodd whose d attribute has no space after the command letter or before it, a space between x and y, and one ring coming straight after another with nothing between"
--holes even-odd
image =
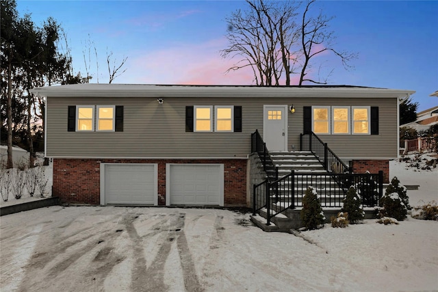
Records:
<instances>
[{"instance_id":1,"label":"closed white garage door farther from the front steps","mask_svg":"<svg viewBox=\"0 0 438 292\"><path fill-rule=\"evenodd\" d=\"M101 164L101 204L157 204L157 164Z\"/></svg>"}]
</instances>

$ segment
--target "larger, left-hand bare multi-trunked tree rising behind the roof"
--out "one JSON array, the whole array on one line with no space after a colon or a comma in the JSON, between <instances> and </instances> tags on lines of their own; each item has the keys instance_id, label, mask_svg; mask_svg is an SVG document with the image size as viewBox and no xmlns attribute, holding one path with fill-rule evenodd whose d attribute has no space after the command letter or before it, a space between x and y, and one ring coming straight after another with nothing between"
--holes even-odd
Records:
<instances>
[{"instance_id":1,"label":"larger, left-hand bare multi-trunked tree rising behind the roof","mask_svg":"<svg viewBox=\"0 0 438 292\"><path fill-rule=\"evenodd\" d=\"M227 18L229 47L222 57L241 59L227 72L250 66L257 85L289 84L292 46L298 41L294 21L298 5L291 1L247 1L250 9Z\"/></svg>"}]
</instances>

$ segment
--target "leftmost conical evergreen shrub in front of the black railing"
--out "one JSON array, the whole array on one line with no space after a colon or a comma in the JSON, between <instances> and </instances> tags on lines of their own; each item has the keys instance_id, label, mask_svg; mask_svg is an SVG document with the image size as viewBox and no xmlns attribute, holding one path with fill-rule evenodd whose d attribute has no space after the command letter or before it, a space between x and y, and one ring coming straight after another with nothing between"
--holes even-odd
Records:
<instances>
[{"instance_id":1,"label":"leftmost conical evergreen shrub in front of the black railing","mask_svg":"<svg viewBox=\"0 0 438 292\"><path fill-rule=\"evenodd\" d=\"M308 187L302 198L300 218L302 224L310 230L318 228L326 220L324 212L322 212L320 199L313 187Z\"/></svg>"}]
</instances>

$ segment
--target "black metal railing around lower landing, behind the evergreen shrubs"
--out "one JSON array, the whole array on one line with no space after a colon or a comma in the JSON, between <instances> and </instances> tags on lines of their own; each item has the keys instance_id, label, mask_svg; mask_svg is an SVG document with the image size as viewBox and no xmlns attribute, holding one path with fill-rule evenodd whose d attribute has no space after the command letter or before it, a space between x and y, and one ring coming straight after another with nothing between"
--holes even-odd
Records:
<instances>
[{"instance_id":1,"label":"black metal railing around lower landing, behind the evergreen shrubs","mask_svg":"<svg viewBox=\"0 0 438 292\"><path fill-rule=\"evenodd\" d=\"M308 187L313 187L317 192L321 207L342 207L350 186L356 187L363 207L375 207L383 196L383 171L378 174L298 174L292 170L290 174L276 181L266 180L254 185L253 210L256 213L266 207L266 224L270 225L275 215L287 209L301 207ZM272 200L274 204L271 204Z\"/></svg>"}]
</instances>

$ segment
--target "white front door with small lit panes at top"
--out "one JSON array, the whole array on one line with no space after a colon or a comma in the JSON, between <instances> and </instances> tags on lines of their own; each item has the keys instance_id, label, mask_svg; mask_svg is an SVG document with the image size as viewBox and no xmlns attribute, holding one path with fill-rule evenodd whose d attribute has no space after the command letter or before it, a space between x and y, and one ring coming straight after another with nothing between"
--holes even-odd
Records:
<instances>
[{"instance_id":1,"label":"white front door with small lit panes at top","mask_svg":"<svg viewBox=\"0 0 438 292\"><path fill-rule=\"evenodd\" d=\"M287 150L287 105L263 105L263 141L270 151Z\"/></svg>"}]
</instances>

